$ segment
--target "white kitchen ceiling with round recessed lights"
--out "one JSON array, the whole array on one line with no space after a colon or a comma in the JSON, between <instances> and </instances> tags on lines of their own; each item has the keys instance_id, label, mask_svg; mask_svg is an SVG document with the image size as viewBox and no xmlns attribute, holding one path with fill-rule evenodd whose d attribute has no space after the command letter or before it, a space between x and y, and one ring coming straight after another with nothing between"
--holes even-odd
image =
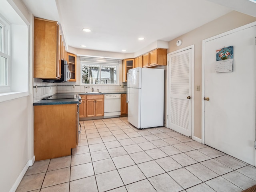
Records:
<instances>
[{"instance_id":1,"label":"white kitchen ceiling with round recessed lights","mask_svg":"<svg viewBox=\"0 0 256 192\"><path fill-rule=\"evenodd\" d=\"M241 5L240 2L245 2ZM232 10L256 16L248 0L22 0L34 16L60 23L68 46L133 53L170 41ZM228 2L224 4L223 2ZM239 9L239 10L238 10ZM254 10L254 11L252 11ZM90 28L92 32L83 32ZM139 37L145 40L139 41Z\"/></svg>"}]
</instances>

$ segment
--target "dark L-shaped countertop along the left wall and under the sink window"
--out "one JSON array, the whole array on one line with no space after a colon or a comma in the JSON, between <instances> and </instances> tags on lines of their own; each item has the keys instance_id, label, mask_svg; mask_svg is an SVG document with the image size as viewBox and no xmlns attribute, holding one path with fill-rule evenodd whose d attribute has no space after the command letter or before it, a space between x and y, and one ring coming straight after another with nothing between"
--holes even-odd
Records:
<instances>
[{"instance_id":1,"label":"dark L-shaped countertop along the left wall and under the sink window","mask_svg":"<svg viewBox=\"0 0 256 192\"><path fill-rule=\"evenodd\" d=\"M56 93L53 96L67 96L67 95L71 95L74 96L76 94L79 95L104 95L104 94L126 94L126 92L98 92L98 93ZM33 105L60 105L60 104L77 104L78 103L78 99L74 98L74 99L42 99L38 102L34 102Z\"/></svg>"}]
</instances>

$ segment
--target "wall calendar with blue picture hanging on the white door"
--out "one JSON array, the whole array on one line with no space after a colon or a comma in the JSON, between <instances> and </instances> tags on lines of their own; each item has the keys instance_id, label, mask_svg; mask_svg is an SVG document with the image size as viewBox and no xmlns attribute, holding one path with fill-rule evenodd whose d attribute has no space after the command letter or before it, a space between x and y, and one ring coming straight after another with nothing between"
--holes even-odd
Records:
<instances>
[{"instance_id":1,"label":"wall calendar with blue picture hanging on the white door","mask_svg":"<svg viewBox=\"0 0 256 192\"><path fill-rule=\"evenodd\" d=\"M233 46L224 47L216 50L215 72L232 72L233 71Z\"/></svg>"}]
</instances>

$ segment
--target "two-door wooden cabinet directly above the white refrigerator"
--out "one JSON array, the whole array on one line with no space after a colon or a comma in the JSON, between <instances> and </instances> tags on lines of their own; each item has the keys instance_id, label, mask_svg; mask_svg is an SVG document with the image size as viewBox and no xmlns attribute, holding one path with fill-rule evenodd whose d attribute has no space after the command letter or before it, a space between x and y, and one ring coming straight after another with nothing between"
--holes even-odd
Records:
<instances>
[{"instance_id":1,"label":"two-door wooden cabinet directly above the white refrigerator","mask_svg":"<svg viewBox=\"0 0 256 192\"><path fill-rule=\"evenodd\" d=\"M167 50L166 49L155 49L144 55L143 67L152 67L167 64Z\"/></svg>"}]
</instances>

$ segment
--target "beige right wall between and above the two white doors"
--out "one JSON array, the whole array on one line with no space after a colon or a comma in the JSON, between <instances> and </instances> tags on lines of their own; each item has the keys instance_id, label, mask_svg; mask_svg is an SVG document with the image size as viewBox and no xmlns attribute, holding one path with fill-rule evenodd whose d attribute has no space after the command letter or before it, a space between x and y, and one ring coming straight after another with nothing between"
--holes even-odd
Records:
<instances>
[{"instance_id":1,"label":"beige right wall between and above the two white doors","mask_svg":"<svg viewBox=\"0 0 256 192\"><path fill-rule=\"evenodd\" d=\"M202 40L256 21L255 17L232 11L212 22L188 32L169 42L167 53L195 45L194 55L194 136L202 138ZM182 40L181 46L176 46ZM200 85L200 91L196 86Z\"/></svg>"}]
</instances>

